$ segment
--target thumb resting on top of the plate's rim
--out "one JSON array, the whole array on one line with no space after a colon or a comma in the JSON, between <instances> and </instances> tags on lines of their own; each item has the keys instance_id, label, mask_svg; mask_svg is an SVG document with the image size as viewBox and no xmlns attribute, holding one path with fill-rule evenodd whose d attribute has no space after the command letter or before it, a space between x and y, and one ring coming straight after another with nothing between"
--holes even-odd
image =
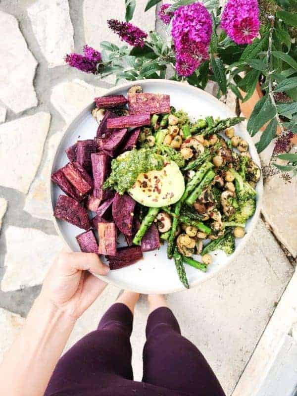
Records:
<instances>
[{"instance_id":1,"label":"thumb resting on top of the plate's rim","mask_svg":"<svg viewBox=\"0 0 297 396\"><path fill-rule=\"evenodd\" d=\"M68 275L77 270L90 271L97 275L106 275L109 267L102 263L96 253L61 253L59 264L63 266Z\"/></svg>"}]
</instances>

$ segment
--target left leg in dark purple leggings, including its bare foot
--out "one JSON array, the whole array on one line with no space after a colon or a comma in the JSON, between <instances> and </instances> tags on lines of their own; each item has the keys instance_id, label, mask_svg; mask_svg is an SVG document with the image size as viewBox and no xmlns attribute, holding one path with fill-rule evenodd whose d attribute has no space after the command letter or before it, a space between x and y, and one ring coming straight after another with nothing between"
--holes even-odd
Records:
<instances>
[{"instance_id":1,"label":"left leg in dark purple leggings, including its bare foot","mask_svg":"<svg viewBox=\"0 0 297 396\"><path fill-rule=\"evenodd\" d=\"M139 295L124 292L89 333L59 360L45 396L121 384L133 380L131 366L133 309Z\"/></svg>"}]
</instances>

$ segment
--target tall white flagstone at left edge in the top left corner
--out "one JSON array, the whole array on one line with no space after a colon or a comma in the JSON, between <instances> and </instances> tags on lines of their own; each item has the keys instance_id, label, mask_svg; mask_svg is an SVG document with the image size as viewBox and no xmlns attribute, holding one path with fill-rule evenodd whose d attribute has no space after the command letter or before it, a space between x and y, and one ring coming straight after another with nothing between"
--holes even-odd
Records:
<instances>
[{"instance_id":1,"label":"tall white flagstone at left edge in the top left corner","mask_svg":"<svg viewBox=\"0 0 297 396\"><path fill-rule=\"evenodd\" d=\"M15 113L37 106L33 79L37 61L13 15L0 11L0 99Z\"/></svg>"}]
</instances>

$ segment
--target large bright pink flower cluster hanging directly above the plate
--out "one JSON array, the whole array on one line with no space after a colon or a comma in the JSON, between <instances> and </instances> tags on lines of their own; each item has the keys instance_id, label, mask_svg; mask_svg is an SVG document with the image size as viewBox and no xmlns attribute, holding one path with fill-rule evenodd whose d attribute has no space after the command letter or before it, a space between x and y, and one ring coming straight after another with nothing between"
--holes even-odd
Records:
<instances>
[{"instance_id":1,"label":"large bright pink flower cluster hanging directly above the plate","mask_svg":"<svg viewBox=\"0 0 297 396\"><path fill-rule=\"evenodd\" d=\"M208 59L212 19L199 2L179 7L172 20L172 38L176 52L175 68L180 76L190 76Z\"/></svg>"}]
</instances>

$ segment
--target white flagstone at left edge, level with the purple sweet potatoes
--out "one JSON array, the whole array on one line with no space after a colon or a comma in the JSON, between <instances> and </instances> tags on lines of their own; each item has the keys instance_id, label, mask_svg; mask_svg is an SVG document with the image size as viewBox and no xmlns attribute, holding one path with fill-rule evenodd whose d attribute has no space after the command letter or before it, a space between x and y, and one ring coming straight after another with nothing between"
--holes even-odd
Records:
<instances>
[{"instance_id":1,"label":"white flagstone at left edge, level with the purple sweet potatoes","mask_svg":"<svg viewBox=\"0 0 297 396\"><path fill-rule=\"evenodd\" d=\"M40 111L0 125L0 186L27 193L40 164L50 114Z\"/></svg>"}]
</instances>

